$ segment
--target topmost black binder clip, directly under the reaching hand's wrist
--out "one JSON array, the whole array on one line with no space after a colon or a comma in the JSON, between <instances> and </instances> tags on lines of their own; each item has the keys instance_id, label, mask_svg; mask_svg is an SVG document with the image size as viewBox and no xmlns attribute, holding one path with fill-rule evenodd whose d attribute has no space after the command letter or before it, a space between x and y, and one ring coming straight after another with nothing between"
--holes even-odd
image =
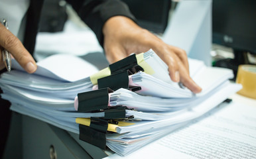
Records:
<instances>
[{"instance_id":1,"label":"topmost black binder clip, directly under the reaching hand's wrist","mask_svg":"<svg viewBox=\"0 0 256 159\"><path fill-rule=\"evenodd\" d=\"M119 72L123 72L126 70L129 70L133 74L135 74L139 71L144 72L144 69L138 65L137 58L136 58L135 54L132 54L131 56L128 56L127 58L124 58L122 60L119 60L118 62L110 64L109 69L111 71L111 74L117 74Z\"/></svg>"}]
</instances>

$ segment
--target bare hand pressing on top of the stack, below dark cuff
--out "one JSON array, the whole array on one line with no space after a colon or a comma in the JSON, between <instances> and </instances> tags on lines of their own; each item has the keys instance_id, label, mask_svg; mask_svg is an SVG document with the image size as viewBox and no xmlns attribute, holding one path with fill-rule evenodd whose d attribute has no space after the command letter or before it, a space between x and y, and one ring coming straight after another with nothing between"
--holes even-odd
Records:
<instances>
[{"instance_id":1,"label":"bare hand pressing on top of the stack, below dark cuff","mask_svg":"<svg viewBox=\"0 0 256 159\"><path fill-rule=\"evenodd\" d=\"M186 52L164 43L131 19L123 16L111 17L103 26L103 35L105 55L110 63L117 62L131 53L139 54L152 48L167 64L172 81L180 81L194 93L202 91L190 78Z\"/></svg>"}]
</instances>

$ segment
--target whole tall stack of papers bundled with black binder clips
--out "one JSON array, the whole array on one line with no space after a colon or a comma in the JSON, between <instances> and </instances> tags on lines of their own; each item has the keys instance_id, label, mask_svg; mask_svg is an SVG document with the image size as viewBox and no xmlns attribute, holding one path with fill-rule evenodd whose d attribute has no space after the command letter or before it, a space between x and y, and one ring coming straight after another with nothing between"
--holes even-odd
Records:
<instances>
[{"instance_id":1,"label":"whole tall stack of papers bundled with black binder clips","mask_svg":"<svg viewBox=\"0 0 256 159\"><path fill-rule=\"evenodd\" d=\"M149 50L97 70L74 56L38 62L35 74L1 75L1 96L11 110L80 134L80 139L125 156L222 103L241 85L231 70L189 59L190 76L202 87L192 93L171 81L168 68ZM77 96L77 97L76 97Z\"/></svg>"}]
</instances>

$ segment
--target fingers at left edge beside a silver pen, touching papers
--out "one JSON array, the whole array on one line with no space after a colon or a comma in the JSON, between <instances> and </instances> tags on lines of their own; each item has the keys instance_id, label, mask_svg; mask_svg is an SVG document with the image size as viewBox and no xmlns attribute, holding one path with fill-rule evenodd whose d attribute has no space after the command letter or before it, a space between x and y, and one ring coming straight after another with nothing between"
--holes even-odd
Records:
<instances>
[{"instance_id":1,"label":"fingers at left edge beside a silver pen, touching papers","mask_svg":"<svg viewBox=\"0 0 256 159\"><path fill-rule=\"evenodd\" d=\"M31 54L29 54L19 38L0 23L0 70L5 68L2 57L3 48L8 50L11 53L11 56L13 56L13 58L15 58L21 67L28 73L32 74L36 71L37 66L34 58L32 58Z\"/></svg>"}]
</instances>

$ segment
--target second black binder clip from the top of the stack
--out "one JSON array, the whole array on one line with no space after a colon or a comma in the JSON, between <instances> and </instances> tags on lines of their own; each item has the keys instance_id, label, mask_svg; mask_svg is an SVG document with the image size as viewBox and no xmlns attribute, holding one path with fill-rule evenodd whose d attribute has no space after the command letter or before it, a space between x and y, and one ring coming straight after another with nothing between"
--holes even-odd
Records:
<instances>
[{"instance_id":1,"label":"second black binder clip from the top of the stack","mask_svg":"<svg viewBox=\"0 0 256 159\"><path fill-rule=\"evenodd\" d=\"M141 90L141 87L139 86L135 86L135 87L129 86L129 75L132 75L132 73L129 70L126 70L123 72L119 72L117 74L113 74L111 76L107 76L105 78L97 79L97 84L99 89L104 87L109 87L113 91L116 91L119 88L125 88L131 91Z\"/></svg>"}]
</instances>

